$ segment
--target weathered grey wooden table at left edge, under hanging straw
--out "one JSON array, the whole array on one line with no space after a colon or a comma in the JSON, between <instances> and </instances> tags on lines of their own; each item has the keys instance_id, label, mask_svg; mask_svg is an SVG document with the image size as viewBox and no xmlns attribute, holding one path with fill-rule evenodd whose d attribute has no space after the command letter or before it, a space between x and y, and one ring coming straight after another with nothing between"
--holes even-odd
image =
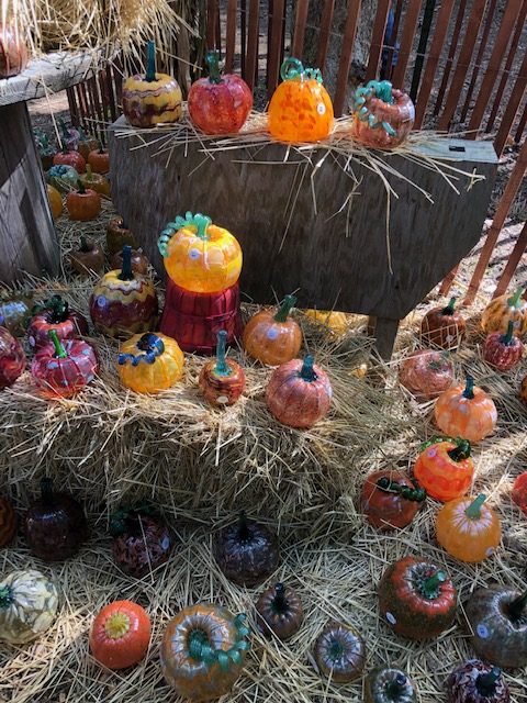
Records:
<instances>
[{"instance_id":1,"label":"weathered grey wooden table at left edge, under hanging straw","mask_svg":"<svg viewBox=\"0 0 527 703\"><path fill-rule=\"evenodd\" d=\"M56 53L0 80L0 280L59 271L59 249L26 102L91 75L92 54Z\"/></svg>"}]
</instances>

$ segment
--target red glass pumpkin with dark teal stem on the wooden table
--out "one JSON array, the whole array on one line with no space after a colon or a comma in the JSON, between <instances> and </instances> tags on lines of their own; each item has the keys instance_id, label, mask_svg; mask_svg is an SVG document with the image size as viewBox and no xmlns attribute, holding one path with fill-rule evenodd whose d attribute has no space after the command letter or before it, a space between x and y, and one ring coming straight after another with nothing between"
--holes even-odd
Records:
<instances>
[{"instance_id":1,"label":"red glass pumpkin with dark teal stem on the wooden table","mask_svg":"<svg viewBox=\"0 0 527 703\"><path fill-rule=\"evenodd\" d=\"M217 52L205 57L209 78L200 78L189 90L189 114L205 134L239 132L253 108L253 92L234 74L220 75Z\"/></svg>"}]
</instances>

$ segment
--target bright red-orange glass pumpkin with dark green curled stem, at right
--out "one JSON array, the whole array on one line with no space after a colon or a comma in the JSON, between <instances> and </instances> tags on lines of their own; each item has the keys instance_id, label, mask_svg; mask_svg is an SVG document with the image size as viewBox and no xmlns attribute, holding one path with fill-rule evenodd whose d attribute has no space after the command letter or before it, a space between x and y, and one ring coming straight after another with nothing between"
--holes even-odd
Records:
<instances>
[{"instance_id":1,"label":"bright red-orange glass pumpkin with dark green curled stem, at right","mask_svg":"<svg viewBox=\"0 0 527 703\"><path fill-rule=\"evenodd\" d=\"M417 458L414 476L428 495L444 503L464 495L474 478L470 443L434 437Z\"/></svg>"}]
</instances>

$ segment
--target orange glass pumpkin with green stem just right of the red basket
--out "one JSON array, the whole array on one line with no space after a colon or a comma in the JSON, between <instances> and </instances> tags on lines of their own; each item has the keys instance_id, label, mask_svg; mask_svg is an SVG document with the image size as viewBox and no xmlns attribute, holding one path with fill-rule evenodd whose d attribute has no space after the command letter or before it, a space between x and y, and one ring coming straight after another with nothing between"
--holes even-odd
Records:
<instances>
[{"instance_id":1,"label":"orange glass pumpkin with green stem just right of the red basket","mask_svg":"<svg viewBox=\"0 0 527 703\"><path fill-rule=\"evenodd\" d=\"M244 347L247 354L268 366L279 366L296 358L302 346L302 332L291 309L294 295L285 295L280 308L256 313L244 330Z\"/></svg>"}]
</instances>

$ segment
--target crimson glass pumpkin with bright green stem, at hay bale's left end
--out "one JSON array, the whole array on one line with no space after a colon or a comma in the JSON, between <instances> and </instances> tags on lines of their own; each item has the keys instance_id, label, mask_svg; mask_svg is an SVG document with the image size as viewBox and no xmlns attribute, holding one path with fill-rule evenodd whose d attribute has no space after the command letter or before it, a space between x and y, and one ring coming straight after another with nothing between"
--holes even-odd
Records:
<instances>
[{"instance_id":1,"label":"crimson glass pumpkin with bright green stem, at hay bale's left end","mask_svg":"<svg viewBox=\"0 0 527 703\"><path fill-rule=\"evenodd\" d=\"M41 393L47 398L71 398L90 383L99 370L93 348L81 339L58 338L49 332L52 344L38 349L31 373Z\"/></svg>"}]
</instances>

